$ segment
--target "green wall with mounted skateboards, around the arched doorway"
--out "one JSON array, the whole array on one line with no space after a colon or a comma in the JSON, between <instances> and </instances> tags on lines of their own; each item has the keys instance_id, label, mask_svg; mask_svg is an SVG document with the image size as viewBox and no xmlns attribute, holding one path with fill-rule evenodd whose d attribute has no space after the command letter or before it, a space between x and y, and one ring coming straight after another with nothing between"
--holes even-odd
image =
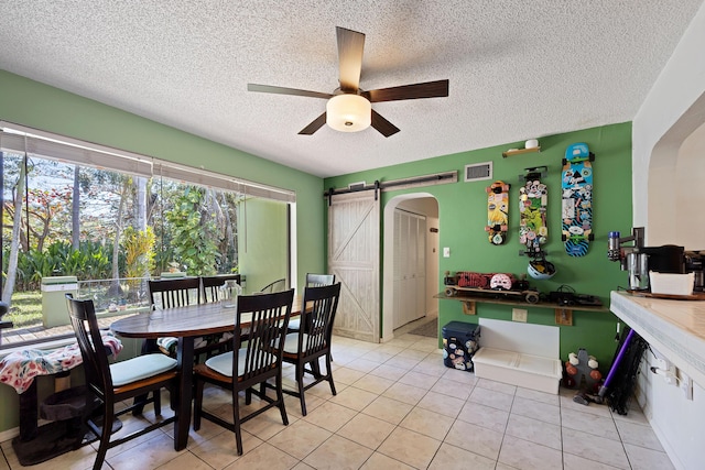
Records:
<instances>
[{"instance_id":1,"label":"green wall with mounted skateboards, around the arched doorway","mask_svg":"<svg viewBox=\"0 0 705 470\"><path fill-rule=\"evenodd\" d=\"M390 138L393 139L393 138ZM586 142L596 155L594 162L594 230L595 241L584 258L565 254L561 241L561 168L567 145ZM606 125L540 139L541 153L502 159L508 149L523 147L512 142L489 149L438 156L368 172L326 178L325 187L346 187L349 183L390 181L431 173L458 171L459 182L423 188L386 192L382 207L400 194L430 193L438 201L440 247L451 248L451 258L440 259L441 277L445 271L527 272L528 259L519 256L519 179L524 167L546 165L549 176L549 242L547 259L557 269L550 281L532 281L542 292L555 291L563 284L578 293L598 295L609 306L609 292L625 285L627 275L619 265L607 260L607 232L631 231L631 123ZM491 182L463 182L464 167L470 163L494 162L494 179L510 183L509 239L506 244L490 245L485 232L487 223L486 186ZM382 227L383 230L383 227ZM441 256L442 250L438 253ZM443 287L438 278L438 292ZM477 316L464 315L456 300L440 300L440 324L451 320L477 323ZM478 316L511 320L511 307L478 304ZM554 325L554 311L529 307L529 323ZM607 371L615 350L616 317L611 313L574 313L574 326L561 327L561 357L578 348L587 348L597 357L600 369Z\"/></svg>"}]
</instances>

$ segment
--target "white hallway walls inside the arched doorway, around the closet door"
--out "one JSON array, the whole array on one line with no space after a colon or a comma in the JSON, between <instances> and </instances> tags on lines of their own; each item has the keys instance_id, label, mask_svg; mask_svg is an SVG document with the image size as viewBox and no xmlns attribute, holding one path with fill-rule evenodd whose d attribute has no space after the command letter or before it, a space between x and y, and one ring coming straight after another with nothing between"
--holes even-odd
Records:
<instances>
[{"instance_id":1,"label":"white hallway walls inside the arched doorway, around the closet door","mask_svg":"<svg viewBox=\"0 0 705 470\"><path fill-rule=\"evenodd\" d=\"M394 215L403 209L425 218L425 309L437 315L438 300L433 298L438 288L438 201L429 193L415 193L395 196L384 206L383 215L383 299L382 299L382 338L389 341L394 337Z\"/></svg>"}]
</instances>

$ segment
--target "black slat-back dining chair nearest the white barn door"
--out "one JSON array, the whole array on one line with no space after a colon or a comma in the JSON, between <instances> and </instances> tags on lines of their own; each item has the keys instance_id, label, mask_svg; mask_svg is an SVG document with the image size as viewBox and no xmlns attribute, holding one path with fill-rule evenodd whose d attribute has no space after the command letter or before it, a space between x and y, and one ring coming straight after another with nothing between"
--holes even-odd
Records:
<instances>
[{"instance_id":1,"label":"black slat-back dining chair nearest the white barn door","mask_svg":"<svg viewBox=\"0 0 705 470\"><path fill-rule=\"evenodd\" d=\"M304 392L312 386L326 381L330 385L330 393L336 395L330 362L330 340L333 323L338 309L340 283L319 287L306 287L302 305L302 329L286 335L282 360L294 364L296 391L284 389L284 393L297 396L301 402L301 414L306 416L306 401ZM319 361L325 359L325 374L321 372ZM306 368L308 364L308 368ZM304 383L304 373L313 375L313 381Z\"/></svg>"}]
</instances>

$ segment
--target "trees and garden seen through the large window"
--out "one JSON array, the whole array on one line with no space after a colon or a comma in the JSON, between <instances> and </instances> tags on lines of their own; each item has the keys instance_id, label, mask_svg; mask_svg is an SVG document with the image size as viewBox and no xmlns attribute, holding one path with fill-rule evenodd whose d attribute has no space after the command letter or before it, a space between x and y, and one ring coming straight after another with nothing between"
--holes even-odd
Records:
<instances>
[{"instance_id":1,"label":"trees and garden seen through the large window","mask_svg":"<svg viewBox=\"0 0 705 470\"><path fill-rule=\"evenodd\" d=\"M112 309L126 300L141 305L143 280L173 267L188 275L238 270L239 194L156 176L76 170L72 164L40 157L29 159L24 192L18 190L22 187L23 155L0 155L2 189L10 196L3 201L2 214L3 287L9 280L11 250L17 249L18 260L11 309L3 319L13 321L15 329L41 325L43 277L74 275L97 308ZM13 240L18 218L19 238ZM78 233L72 230L76 218ZM120 237L117 245L116 233ZM113 280L116 276L120 281Z\"/></svg>"}]
</instances>

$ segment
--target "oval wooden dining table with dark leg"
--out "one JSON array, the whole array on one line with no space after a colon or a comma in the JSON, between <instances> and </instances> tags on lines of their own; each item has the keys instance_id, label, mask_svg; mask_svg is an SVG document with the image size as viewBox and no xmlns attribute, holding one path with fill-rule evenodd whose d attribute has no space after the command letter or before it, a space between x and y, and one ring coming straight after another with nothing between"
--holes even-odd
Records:
<instances>
[{"instance_id":1,"label":"oval wooden dining table with dark leg","mask_svg":"<svg viewBox=\"0 0 705 470\"><path fill-rule=\"evenodd\" d=\"M204 335L232 331L237 309L231 303L215 302L183 307L155 309L131 317L120 318L110 329L124 338L156 339L176 337L178 404L174 426L174 449L182 450L188 442L191 402L193 400L194 339ZM301 298L294 297L292 316L301 314ZM250 324L251 314L242 314L240 328Z\"/></svg>"}]
</instances>

